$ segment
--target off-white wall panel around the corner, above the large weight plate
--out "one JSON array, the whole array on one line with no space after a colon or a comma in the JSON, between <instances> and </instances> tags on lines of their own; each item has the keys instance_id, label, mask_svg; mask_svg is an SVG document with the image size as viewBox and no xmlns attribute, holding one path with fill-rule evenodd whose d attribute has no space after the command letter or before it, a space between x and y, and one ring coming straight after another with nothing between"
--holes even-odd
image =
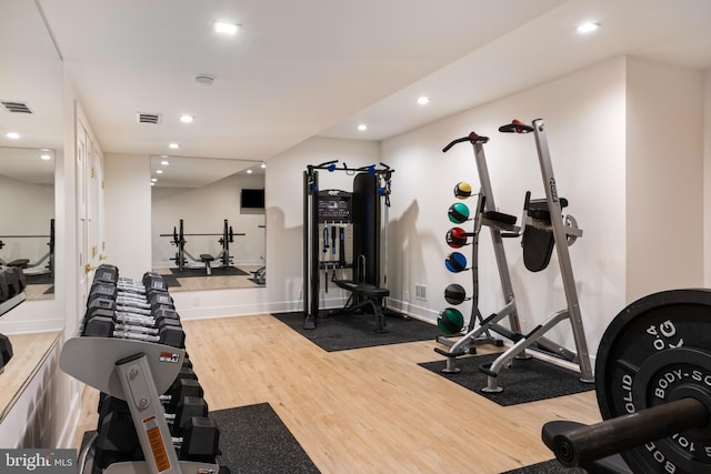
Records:
<instances>
[{"instance_id":1,"label":"off-white wall panel around the corner, above the large weight plate","mask_svg":"<svg viewBox=\"0 0 711 474\"><path fill-rule=\"evenodd\" d=\"M628 301L703 284L703 100L702 72L628 59Z\"/></svg>"}]
</instances>

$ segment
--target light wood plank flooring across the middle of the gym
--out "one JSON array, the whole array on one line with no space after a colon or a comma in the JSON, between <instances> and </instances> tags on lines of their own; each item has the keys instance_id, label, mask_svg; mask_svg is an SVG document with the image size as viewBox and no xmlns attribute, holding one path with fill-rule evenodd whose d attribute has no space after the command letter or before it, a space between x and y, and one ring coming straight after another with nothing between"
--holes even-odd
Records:
<instances>
[{"instance_id":1,"label":"light wood plank flooring across the middle of the gym","mask_svg":"<svg viewBox=\"0 0 711 474\"><path fill-rule=\"evenodd\" d=\"M269 402L322 473L501 473L553 457L545 422L600 421L592 391L499 406L418 365L434 341L328 353L270 315L183 326L210 410Z\"/></svg>"}]
</instances>

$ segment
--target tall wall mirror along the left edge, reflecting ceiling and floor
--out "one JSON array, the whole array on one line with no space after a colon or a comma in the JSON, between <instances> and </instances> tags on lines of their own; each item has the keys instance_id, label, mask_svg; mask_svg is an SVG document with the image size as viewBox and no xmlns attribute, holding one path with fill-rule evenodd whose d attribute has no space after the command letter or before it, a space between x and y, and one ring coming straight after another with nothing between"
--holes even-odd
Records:
<instances>
[{"instance_id":1,"label":"tall wall mirror along the left edge, reflecting ceiling and floor","mask_svg":"<svg viewBox=\"0 0 711 474\"><path fill-rule=\"evenodd\" d=\"M63 313L50 254L56 162L63 159L62 62L34 1L0 0L0 259L27 260L27 301L0 317L13 356L0 421L57 343ZM32 236L29 236L32 235Z\"/></svg>"}]
</instances>

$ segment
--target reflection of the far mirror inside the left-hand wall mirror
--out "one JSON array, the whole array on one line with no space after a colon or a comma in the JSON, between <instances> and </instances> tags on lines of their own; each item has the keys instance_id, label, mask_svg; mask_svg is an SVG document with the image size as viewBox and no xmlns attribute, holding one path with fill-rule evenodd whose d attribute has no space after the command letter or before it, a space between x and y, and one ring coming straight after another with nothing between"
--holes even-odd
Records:
<instances>
[{"instance_id":1,"label":"reflection of the far mirror inside the left-hand wall mirror","mask_svg":"<svg viewBox=\"0 0 711 474\"><path fill-rule=\"evenodd\" d=\"M22 269L28 300L54 295L54 154L0 147L0 264Z\"/></svg>"}]
</instances>

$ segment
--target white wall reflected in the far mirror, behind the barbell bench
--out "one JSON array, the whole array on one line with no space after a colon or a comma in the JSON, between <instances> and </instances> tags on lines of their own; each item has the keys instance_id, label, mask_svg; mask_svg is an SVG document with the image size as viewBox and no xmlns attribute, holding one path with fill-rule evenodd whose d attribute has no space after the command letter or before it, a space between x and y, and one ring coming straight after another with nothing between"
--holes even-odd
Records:
<instances>
[{"instance_id":1,"label":"white wall reflected in the far mirror, behind the barbell bench","mask_svg":"<svg viewBox=\"0 0 711 474\"><path fill-rule=\"evenodd\" d=\"M153 188L151 241L152 268L166 269L176 266L171 261L176 255L176 245L171 238L160 234L172 234L183 219L186 233L214 233L219 235L187 236L186 249L196 259L201 253L218 255L222 245L223 221L227 219L234 233L234 242L230 243L230 255L236 265L261 265L264 256L264 211L240 209L240 191L242 189L263 189L263 175L236 173L217 182L197 189Z\"/></svg>"}]
</instances>

